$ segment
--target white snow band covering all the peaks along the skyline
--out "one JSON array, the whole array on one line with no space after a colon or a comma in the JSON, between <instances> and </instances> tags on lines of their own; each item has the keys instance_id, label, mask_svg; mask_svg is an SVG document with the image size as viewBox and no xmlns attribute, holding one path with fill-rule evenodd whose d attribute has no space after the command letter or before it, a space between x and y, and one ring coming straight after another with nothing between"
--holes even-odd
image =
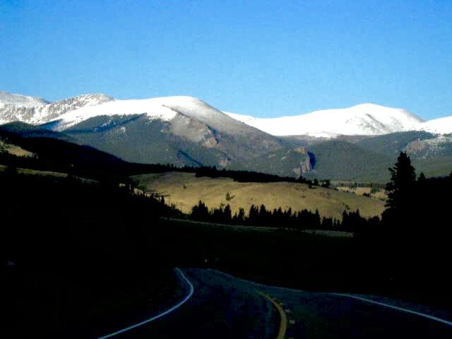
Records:
<instances>
[{"instance_id":1,"label":"white snow band covering all the peaks along the skyline","mask_svg":"<svg viewBox=\"0 0 452 339\"><path fill-rule=\"evenodd\" d=\"M0 91L0 124L23 121L44 124L53 121L59 131L99 115L146 114L149 119L169 121L179 114L186 121L196 119L218 131L250 133L260 129L274 136L331 138L339 135L381 135L397 131L425 130L452 133L452 118L425 122L405 109L371 103L345 109L323 109L297 116L256 118L221 112L206 102L189 96L155 97L144 100L115 100L104 94L85 94L49 103ZM242 121L244 124L236 124ZM188 122L187 122L188 123Z\"/></svg>"}]
</instances>

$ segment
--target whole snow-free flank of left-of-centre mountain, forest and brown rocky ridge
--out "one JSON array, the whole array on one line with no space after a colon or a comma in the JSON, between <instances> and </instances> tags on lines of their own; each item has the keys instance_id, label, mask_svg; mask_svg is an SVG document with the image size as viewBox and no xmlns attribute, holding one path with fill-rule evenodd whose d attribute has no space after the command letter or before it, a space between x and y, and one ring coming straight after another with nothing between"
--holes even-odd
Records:
<instances>
[{"instance_id":1,"label":"whole snow-free flank of left-of-centre mountain, forest and brown rocky ridge","mask_svg":"<svg viewBox=\"0 0 452 339\"><path fill-rule=\"evenodd\" d=\"M100 115L64 132L79 143L131 162L207 165L292 177L304 172L301 167L306 163L306 153L249 126L237 122L222 125L230 119L222 115L200 119L181 112L171 119L154 119L144 113ZM214 118L220 121L214 124Z\"/></svg>"}]
</instances>

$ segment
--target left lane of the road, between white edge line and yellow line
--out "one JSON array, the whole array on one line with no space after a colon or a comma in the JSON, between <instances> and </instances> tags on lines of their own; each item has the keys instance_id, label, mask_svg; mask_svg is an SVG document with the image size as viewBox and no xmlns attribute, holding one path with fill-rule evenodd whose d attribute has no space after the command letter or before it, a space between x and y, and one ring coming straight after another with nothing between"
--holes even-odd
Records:
<instances>
[{"instance_id":1,"label":"left lane of the road, between white edge line and yellow line","mask_svg":"<svg viewBox=\"0 0 452 339\"><path fill-rule=\"evenodd\" d=\"M155 321L111 338L275 338L278 311L254 285L213 270L189 269L184 274L194 287L190 299Z\"/></svg>"}]
</instances>

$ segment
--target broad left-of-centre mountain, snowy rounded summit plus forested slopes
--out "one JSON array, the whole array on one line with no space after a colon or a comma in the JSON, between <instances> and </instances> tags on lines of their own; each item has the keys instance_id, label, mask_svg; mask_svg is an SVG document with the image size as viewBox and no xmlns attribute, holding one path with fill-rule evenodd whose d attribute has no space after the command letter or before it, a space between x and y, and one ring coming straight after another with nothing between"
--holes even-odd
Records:
<instances>
[{"instance_id":1,"label":"broad left-of-centre mountain, snowy rounded summit plus forested slopes","mask_svg":"<svg viewBox=\"0 0 452 339\"><path fill-rule=\"evenodd\" d=\"M232 119L196 97L115 100L61 114L43 126L133 162L247 168L251 159L278 152L290 159L293 172L307 159L305 153L292 152L287 141ZM289 160L277 160L271 160L273 171L286 174L282 164ZM259 162L254 163L256 169Z\"/></svg>"}]
</instances>

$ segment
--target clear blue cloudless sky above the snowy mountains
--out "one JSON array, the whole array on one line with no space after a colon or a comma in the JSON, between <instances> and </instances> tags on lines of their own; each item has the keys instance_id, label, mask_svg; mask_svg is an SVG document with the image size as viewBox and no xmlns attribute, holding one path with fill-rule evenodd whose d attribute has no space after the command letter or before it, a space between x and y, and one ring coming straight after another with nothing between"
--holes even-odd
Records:
<instances>
[{"instance_id":1,"label":"clear blue cloudless sky above the snowy mountains","mask_svg":"<svg viewBox=\"0 0 452 339\"><path fill-rule=\"evenodd\" d=\"M0 0L0 90L452 115L452 1Z\"/></svg>"}]
</instances>

